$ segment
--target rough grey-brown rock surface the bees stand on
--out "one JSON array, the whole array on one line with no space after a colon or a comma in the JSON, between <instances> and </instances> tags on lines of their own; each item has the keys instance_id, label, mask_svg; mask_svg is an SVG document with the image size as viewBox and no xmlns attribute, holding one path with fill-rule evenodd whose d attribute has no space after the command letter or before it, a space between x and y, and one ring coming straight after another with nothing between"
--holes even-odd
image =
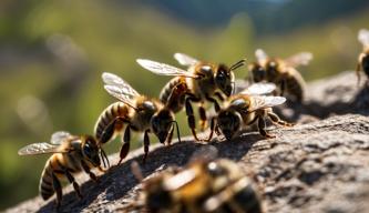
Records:
<instances>
[{"instance_id":1,"label":"rough grey-brown rock surface the bees stand on","mask_svg":"<svg viewBox=\"0 0 369 213\"><path fill-rule=\"evenodd\" d=\"M275 139L245 132L234 141L219 136L208 144L221 158L237 161L255 180L265 212L369 212L368 95L361 87L352 72L311 82L306 105L280 110L297 124L270 126ZM143 174L184 165L194 151L208 144L184 138L171 146L153 145L148 161L141 164ZM71 186L63 189L60 212L124 212L137 197L140 183L131 162L141 162L142 153L143 149L131 152L122 165L103 174L100 183L80 175L84 197L80 201ZM111 161L116 163L117 156L112 155ZM8 212L50 212L53 205L53 197L44 202L38 196Z\"/></svg>"}]
</instances>

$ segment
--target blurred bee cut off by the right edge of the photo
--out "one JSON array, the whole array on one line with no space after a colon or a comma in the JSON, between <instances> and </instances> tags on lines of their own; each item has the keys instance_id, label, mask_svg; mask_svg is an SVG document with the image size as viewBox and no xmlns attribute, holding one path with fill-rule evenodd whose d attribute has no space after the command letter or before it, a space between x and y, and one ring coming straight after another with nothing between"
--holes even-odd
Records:
<instances>
[{"instance_id":1,"label":"blurred bee cut off by the right edge of the photo","mask_svg":"<svg viewBox=\"0 0 369 213\"><path fill-rule=\"evenodd\" d=\"M358 64L356 68L359 83L361 70L369 77L369 30L361 29L359 31L358 40L362 44L362 52L359 54Z\"/></svg>"}]
</instances>

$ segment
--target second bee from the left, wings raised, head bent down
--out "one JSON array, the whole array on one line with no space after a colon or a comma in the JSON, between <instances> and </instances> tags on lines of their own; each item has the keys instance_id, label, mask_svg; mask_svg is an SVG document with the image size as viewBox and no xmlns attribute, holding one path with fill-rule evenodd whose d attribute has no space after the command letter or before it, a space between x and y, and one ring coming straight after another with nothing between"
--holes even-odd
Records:
<instances>
[{"instance_id":1,"label":"second bee from the left, wings raised, head bent down","mask_svg":"<svg viewBox=\"0 0 369 213\"><path fill-rule=\"evenodd\" d=\"M140 94L129 83L120 77L104 72L102 74L104 89L119 102L109 105L99 116L95 124L95 136L104 144L123 131L123 145L120 151L120 161L127 155L130 151L131 130L144 132L144 158L148 154L150 138L153 132L161 143L171 144L176 124L177 136L180 139L178 124L174 120L174 113L161 101Z\"/></svg>"}]
</instances>

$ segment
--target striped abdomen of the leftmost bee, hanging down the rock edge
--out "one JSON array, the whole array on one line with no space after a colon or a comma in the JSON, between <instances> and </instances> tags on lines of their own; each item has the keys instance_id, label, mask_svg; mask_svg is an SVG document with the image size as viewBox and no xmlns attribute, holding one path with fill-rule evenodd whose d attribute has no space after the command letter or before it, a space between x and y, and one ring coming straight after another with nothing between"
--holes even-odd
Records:
<instances>
[{"instance_id":1,"label":"striped abdomen of the leftmost bee, hanging down the rock edge","mask_svg":"<svg viewBox=\"0 0 369 213\"><path fill-rule=\"evenodd\" d=\"M40 180L40 194L43 200L48 200L55 192L53 187L53 178L54 174L59 181L65 179L63 171L68 170L70 173L78 173L82 170L81 163L75 154L53 154L48 161L42 171Z\"/></svg>"}]
</instances>

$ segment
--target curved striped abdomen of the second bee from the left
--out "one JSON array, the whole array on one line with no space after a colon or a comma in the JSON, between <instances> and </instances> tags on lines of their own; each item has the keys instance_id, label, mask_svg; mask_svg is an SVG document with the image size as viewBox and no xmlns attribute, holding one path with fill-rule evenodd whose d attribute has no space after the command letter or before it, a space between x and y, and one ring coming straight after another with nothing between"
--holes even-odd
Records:
<instances>
[{"instance_id":1,"label":"curved striped abdomen of the second bee from the left","mask_svg":"<svg viewBox=\"0 0 369 213\"><path fill-rule=\"evenodd\" d=\"M95 124L95 136L101 139L102 133L109 124L111 124L116 118L126 118L129 114L129 106L123 102L115 102L109 105L99 116ZM123 123L121 125L115 125L115 132L123 129Z\"/></svg>"}]
</instances>

